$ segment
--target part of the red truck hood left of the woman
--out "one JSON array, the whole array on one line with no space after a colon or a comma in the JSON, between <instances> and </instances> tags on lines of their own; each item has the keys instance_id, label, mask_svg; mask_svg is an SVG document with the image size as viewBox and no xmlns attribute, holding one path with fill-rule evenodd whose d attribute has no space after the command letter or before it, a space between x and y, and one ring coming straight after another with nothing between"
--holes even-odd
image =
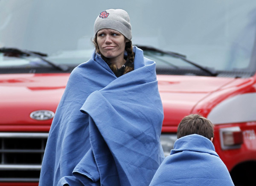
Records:
<instances>
[{"instance_id":1,"label":"part of the red truck hood left of the woman","mask_svg":"<svg viewBox=\"0 0 256 186\"><path fill-rule=\"evenodd\" d=\"M30 113L36 110L55 113L69 76L69 73L1 74L0 124L51 124L52 119L34 120Z\"/></svg>"}]
</instances>

